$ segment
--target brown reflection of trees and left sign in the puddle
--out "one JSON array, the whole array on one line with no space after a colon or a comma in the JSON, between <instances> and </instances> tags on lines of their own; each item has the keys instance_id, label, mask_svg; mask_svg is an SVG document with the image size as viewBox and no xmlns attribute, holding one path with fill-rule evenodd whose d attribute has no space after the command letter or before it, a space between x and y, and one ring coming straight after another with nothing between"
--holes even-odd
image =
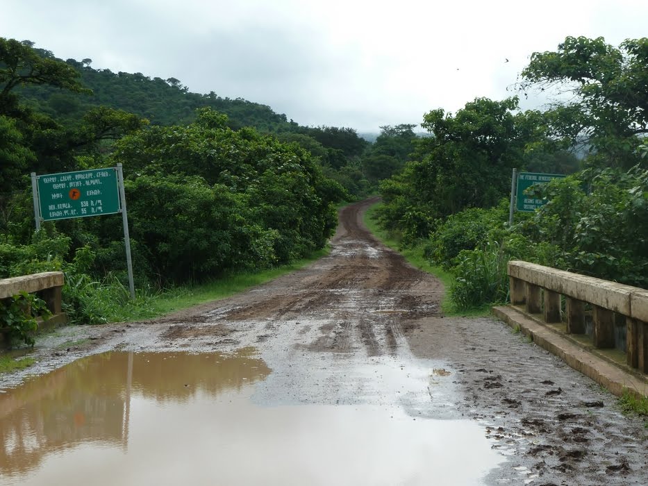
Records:
<instances>
[{"instance_id":1,"label":"brown reflection of trees and left sign in the puddle","mask_svg":"<svg viewBox=\"0 0 648 486\"><path fill-rule=\"evenodd\" d=\"M0 394L0 478L25 474L78 444L128 447L133 397L158 406L215 397L270 372L235 355L110 352L83 358Z\"/></svg>"}]
</instances>

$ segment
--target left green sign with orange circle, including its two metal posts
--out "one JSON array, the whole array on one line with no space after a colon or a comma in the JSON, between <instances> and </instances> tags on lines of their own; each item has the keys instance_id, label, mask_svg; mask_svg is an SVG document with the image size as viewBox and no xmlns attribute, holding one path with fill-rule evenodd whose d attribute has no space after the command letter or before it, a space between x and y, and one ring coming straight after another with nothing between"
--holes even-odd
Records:
<instances>
[{"instance_id":1,"label":"left green sign with orange circle, including its two metal posts","mask_svg":"<svg viewBox=\"0 0 648 486\"><path fill-rule=\"evenodd\" d=\"M43 176L37 176L32 172L31 186L36 231L40 230L42 221L122 213L128 287L131 291L131 299L135 299L122 164L107 169L60 172Z\"/></svg>"}]
</instances>

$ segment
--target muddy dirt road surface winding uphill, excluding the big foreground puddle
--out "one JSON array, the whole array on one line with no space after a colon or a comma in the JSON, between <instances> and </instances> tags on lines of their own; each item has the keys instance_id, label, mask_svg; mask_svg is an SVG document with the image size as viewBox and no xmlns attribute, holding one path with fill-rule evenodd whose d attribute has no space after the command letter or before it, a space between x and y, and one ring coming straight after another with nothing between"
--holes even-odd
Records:
<instances>
[{"instance_id":1,"label":"muddy dirt road surface winding uphill, excluding the big foreground puddle","mask_svg":"<svg viewBox=\"0 0 648 486\"><path fill-rule=\"evenodd\" d=\"M3 376L0 387L113 349L251 347L272 369L255 403L397 406L422 422L479 424L499 464L476 484L648 485L642 421L501 322L443 317L440 282L363 226L370 203L341 210L331 254L305 269L155 321L65 328L39 343L33 369ZM473 460L466 453L452 467L458 474Z\"/></svg>"}]
</instances>

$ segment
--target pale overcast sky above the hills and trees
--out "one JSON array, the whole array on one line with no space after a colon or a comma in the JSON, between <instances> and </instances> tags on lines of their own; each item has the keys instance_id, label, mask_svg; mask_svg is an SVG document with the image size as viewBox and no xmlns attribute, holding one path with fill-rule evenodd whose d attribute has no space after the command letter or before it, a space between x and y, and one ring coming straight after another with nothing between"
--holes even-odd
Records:
<instances>
[{"instance_id":1,"label":"pale overcast sky above the hills and trees","mask_svg":"<svg viewBox=\"0 0 648 486\"><path fill-rule=\"evenodd\" d=\"M567 35L646 37L648 1L0 0L0 37L360 132L503 99Z\"/></svg>"}]
</instances>

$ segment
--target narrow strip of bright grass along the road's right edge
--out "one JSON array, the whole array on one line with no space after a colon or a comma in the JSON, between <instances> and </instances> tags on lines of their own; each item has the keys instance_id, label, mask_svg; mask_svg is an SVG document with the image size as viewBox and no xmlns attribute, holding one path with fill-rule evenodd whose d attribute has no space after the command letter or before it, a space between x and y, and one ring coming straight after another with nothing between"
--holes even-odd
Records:
<instances>
[{"instance_id":1,"label":"narrow strip of bright grass along the road's right edge","mask_svg":"<svg viewBox=\"0 0 648 486\"><path fill-rule=\"evenodd\" d=\"M374 206L369 207L367 212L365 212L364 223L369 231L371 231L374 236L376 236L383 244L389 246L391 249L398 251L404 258L417 269L425 271L428 274L431 274L441 280L443 286L446 289L443 300L441 302L441 310L447 316L462 316L462 317L482 317L490 315L490 305L486 305L483 308L467 311L458 311L456 310L454 304L452 303L450 296L447 290L450 288L454 282L454 275L449 271L445 271L441 267L435 267L430 265L430 262L423 256L423 246L418 245L413 248L401 248L401 242L398 237L391 235L388 231L385 231L381 228L376 220L376 211L380 207L381 203L376 203Z\"/></svg>"}]
</instances>

